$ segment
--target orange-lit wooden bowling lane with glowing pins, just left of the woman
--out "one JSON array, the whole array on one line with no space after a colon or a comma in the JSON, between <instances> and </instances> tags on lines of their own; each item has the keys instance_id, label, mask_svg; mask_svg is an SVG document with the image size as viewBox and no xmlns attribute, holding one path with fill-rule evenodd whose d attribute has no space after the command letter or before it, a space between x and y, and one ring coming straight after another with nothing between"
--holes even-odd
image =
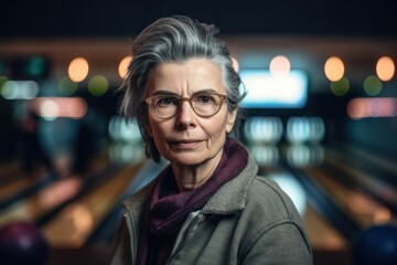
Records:
<instances>
[{"instance_id":1,"label":"orange-lit wooden bowling lane with glowing pins, just left of the woman","mask_svg":"<svg viewBox=\"0 0 397 265\"><path fill-rule=\"evenodd\" d=\"M90 183L89 188L83 187L79 193L68 201L68 204L56 208L55 211L37 221L49 242L56 250L60 247L78 248L84 244L110 243L110 240L88 241L94 235L104 234L103 231L111 234L107 235L107 239L112 239L117 223L109 224L107 221L121 216L115 209L122 210L122 199L135 192L131 186L137 188L144 183L144 180L136 183L141 167L148 161L144 158L144 147L137 124L133 121L127 124L122 117L114 116L109 120L108 132L110 138L104 151L108 162L116 166L116 170L107 173L101 181L96 181L95 186ZM94 172L95 168L87 171ZM148 179L148 176L144 177ZM54 198L58 197L60 194L54 195Z\"/></svg>"}]
</instances>

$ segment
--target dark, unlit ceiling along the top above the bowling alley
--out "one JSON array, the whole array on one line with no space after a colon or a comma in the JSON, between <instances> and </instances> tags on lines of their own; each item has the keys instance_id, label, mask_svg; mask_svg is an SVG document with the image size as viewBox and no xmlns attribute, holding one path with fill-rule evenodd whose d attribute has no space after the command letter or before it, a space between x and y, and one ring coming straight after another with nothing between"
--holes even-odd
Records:
<instances>
[{"instance_id":1,"label":"dark, unlit ceiling along the top above the bowling alley","mask_svg":"<svg viewBox=\"0 0 397 265\"><path fill-rule=\"evenodd\" d=\"M157 18L186 14L224 34L397 38L391 0L7 0L1 38L126 36Z\"/></svg>"}]
</instances>

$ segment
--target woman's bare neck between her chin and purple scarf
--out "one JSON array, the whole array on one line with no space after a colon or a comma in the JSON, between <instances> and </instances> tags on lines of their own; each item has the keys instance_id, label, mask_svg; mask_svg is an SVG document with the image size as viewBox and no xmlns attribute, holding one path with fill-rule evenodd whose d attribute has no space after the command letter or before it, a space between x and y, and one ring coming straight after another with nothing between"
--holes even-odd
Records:
<instances>
[{"instance_id":1,"label":"woman's bare neck between her chin and purple scarf","mask_svg":"<svg viewBox=\"0 0 397 265\"><path fill-rule=\"evenodd\" d=\"M171 165L180 192L194 190L204 184L221 161L221 150L212 159L200 165Z\"/></svg>"}]
</instances>

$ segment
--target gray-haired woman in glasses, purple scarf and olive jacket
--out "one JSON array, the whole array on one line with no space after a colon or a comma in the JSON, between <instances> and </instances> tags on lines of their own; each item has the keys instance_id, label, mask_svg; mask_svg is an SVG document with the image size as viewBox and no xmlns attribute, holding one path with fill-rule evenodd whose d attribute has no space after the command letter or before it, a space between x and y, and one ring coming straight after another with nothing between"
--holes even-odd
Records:
<instances>
[{"instance_id":1,"label":"gray-haired woman in glasses, purple scarf and olive jacket","mask_svg":"<svg viewBox=\"0 0 397 265\"><path fill-rule=\"evenodd\" d=\"M244 95L216 33L172 17L135 41L121 113L170 165L125 202L111 264L311 264L292 202L229 137Z\"/></svg>"}]
</instances>

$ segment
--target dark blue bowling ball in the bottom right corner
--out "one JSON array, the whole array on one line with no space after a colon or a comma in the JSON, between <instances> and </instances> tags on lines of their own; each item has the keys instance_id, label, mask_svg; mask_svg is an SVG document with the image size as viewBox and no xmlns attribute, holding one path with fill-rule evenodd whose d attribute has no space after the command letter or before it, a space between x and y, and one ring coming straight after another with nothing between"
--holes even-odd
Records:
<instances>
[{"instance_id":1,"label":"dark blue bowling ball in the bottom right corner","mask_svg":"<svg viewBox=\"0 0 397 265\"><path fill-rule=\"evenodd\" d=\"M374 225L364 229L353 243L354 265L396 265L397 226Z\"/></svg>"}]
</instances>

